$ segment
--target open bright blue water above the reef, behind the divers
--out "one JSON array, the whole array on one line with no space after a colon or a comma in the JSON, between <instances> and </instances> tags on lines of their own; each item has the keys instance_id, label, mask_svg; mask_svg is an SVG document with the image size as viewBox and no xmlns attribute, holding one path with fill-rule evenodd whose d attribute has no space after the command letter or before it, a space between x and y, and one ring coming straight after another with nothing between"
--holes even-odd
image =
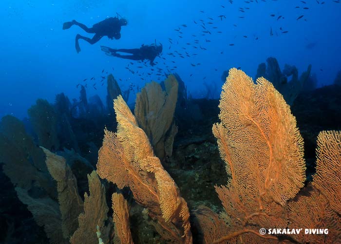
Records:
<instances>
[{"instance_id":1,"label":"open bright blue water above the reef, behind the divers","mask_svg":"<svg viewBox=\"0 0 341 244\"><path fill-rule=\"evenodd\" d=\"M71 99L78 98L79 87L77 89L76 85L85 78L99 77L103 69L113 73L117 80L121 79L118 81L122 90L127 89L130 83L141 87L145 81L156 80L156 75L143 76L145 80L141 80L140 76L125 69L129 60L106 56L100 50L100 45L138 48L141 44L153 43L155 39L163 44L161 57L166 58L156 58L158 65L155 67L164 69L163 62L170 67L176 66L173 72L182 77L194 97L206 94L204 82L215 85L218 96L222 72L231 67L241 67L246 74L254 77L258 64L265 62L269 56L276 57L282 69L288 63L296 65L300 73L312 64L318 86L333 83L337 71L341 69L341 3L335 0L325 0L324 4L322 0L319 0L320 3L316 0L305 0L306 3L300 0L246 2L1 0L0 117L13 114L23 118L37 98L53 102L55 95L61 92ZM240 7L244 8L245 13L239 11ZM122 37L119 40L105 37L94 45L80 40L82 51L77 54L76 34L90 38L92 35L77 26L62 30L63 22L76 19L91 27L107 17L114 17L116 12L129 21L127 26L122 27ZM275 16L271 17L271 14ZM226 18L220 20L220 15ZM277 20L281 15L284 19ZM301 15L304 15L303 18L297 20ZM206 26L211 26L211 35L201 36L204 33L199 25L200 19ZM218 28L212 29L213 26ZM179 27L183 38L179 38L179 33L174 31ZM270 36L270 28L273 36ZM172 45L168 38L173 40ZM200 49L199 45L196 45L198 49L192 48L194 39L199 39L201 47L207 50ZM232 43L234 46L229 45ZM180 53L187 51L190 57L167 55L175 50ZM192 56L194 53L197 56ZM193 67L191 63L201 65ZM144 72L149 71L150 67L145 68ZM97 90L92 83L88 84L88 96L99 94L105 101L106 86L97 84L95 87ZM133 102L133 97L130 102Z\"/></svg>"}]
</instances>

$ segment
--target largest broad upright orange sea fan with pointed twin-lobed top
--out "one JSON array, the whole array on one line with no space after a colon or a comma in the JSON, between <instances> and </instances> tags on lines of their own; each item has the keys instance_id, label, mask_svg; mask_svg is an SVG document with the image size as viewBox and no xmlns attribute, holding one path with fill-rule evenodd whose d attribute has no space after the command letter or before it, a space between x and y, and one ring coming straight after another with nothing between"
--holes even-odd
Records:
<instances>
[{"instance_id":1,"label":"largest broad upright orange sea fan with pointed twin-lobed top","mask_svg":"<svg viewBox=\"0 0 341 244\"><path fill-rule=\"evenodd\" d=\"M213 134L231 180L216 191L234 220L228 236L285 226L283 206L303 187L305 164L303 139L283 96L264 78L254 84L231 69L219 108Z\"/></svg>"}]
</instances>

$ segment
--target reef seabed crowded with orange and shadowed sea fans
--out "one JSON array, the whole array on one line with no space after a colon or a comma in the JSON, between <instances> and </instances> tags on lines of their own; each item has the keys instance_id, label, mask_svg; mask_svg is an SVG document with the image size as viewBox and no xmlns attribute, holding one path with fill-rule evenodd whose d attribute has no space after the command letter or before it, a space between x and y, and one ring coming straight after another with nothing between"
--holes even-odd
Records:
<instances>
[{"instance_id":1,"label":"reef seabed crowded with orange and shadowed sea fans","mask_svg":"<svg viewBox=\"0 0 341 244\"><path fill-rule=\"evenodd\" d=\"M271 69L276 80L298 80L294 66ZM266 75L265 64L262 72ZM176 138L167 133L164 154L172 148L173 155L164 157L163 165L121 96L114 107L117 132L111 132L114 110L108 114L98 96L88 99L85 87L75 106L64 94L54 105L44 100L43 106L34 105L36 114L47 116L43 121L57 124L42 130L48 135L56 128L52 133L59 146L50 145L56 154L38 147L44 141L38 123L3 117L0 243L341 242L336 180L341 178L341 135L326 131L341 130L341 86L300 92L292 104L305 163L295 118L264 78L255 84L242 71L231 70L219 103L191 98L180 76L174 76L178 101L170 106L173 110L176 104L175 112L164 115L171 121L169 131L176 131L175 124L179 131ZM164 91L155 90L164 93L164 103L170 95L165 91L175 93L174 77L170 81L157 84ZM159 94L154 92L148 104L154 95ZM219 109L221 122L216 123ZM148 119L162 109L145 111ZM96 163L108 181L101 183L93 171ZM311 226L329 233L260 235L261 226Z\"/></svg>"}]
</instances>

